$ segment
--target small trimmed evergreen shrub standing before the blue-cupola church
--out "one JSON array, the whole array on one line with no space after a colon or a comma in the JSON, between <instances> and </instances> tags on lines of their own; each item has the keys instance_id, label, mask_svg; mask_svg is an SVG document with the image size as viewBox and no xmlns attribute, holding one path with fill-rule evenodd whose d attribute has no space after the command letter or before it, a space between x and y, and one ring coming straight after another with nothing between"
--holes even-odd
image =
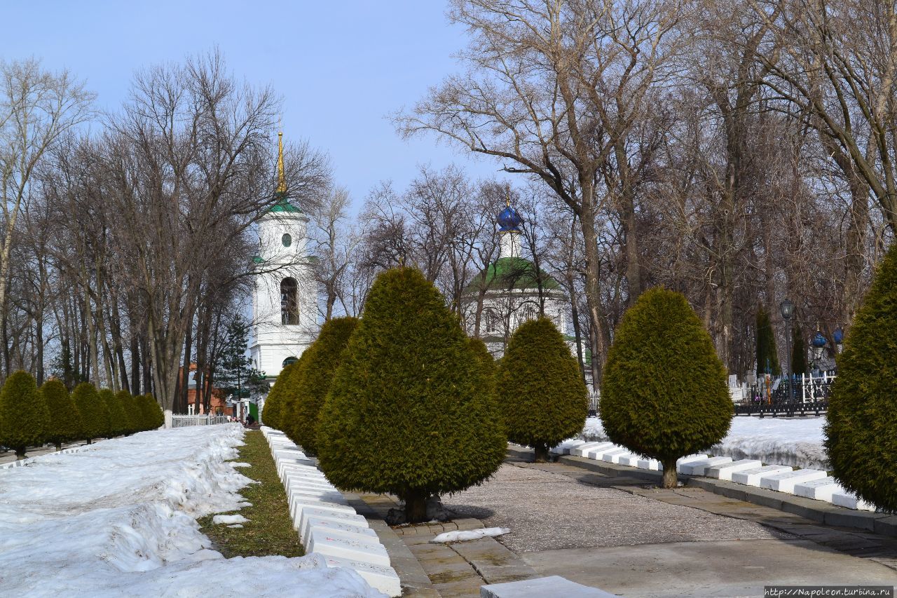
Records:
<instances>
[{"instance_id":1,"label":"small trimmed evergreen shrub standing before the blue-cupola church","mask_svg":"<svg viewBox=\"0 0 897 598\"><path fill-rule=\"evenodd\" d=\"M511 335L496 387L509 441L532 446L536 462L546 461L549 448L586 425L586 383L547 318L524 322Z\"/></svg>"}]
</instances>

